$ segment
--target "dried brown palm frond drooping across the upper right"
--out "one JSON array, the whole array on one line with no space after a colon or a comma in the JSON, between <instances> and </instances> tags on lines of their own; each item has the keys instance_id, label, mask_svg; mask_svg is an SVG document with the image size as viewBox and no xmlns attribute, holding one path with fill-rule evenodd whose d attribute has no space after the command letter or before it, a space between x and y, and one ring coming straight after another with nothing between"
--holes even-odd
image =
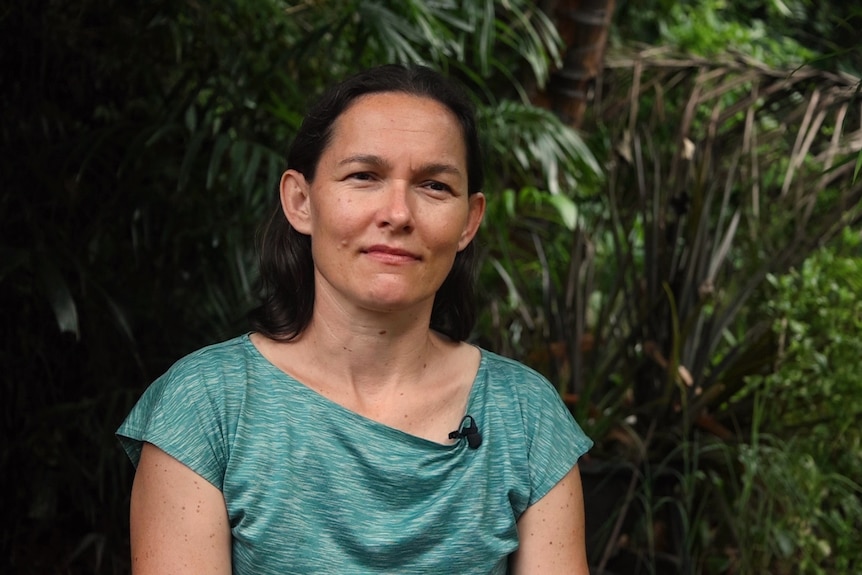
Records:
<instances>
[{"instance_id":1,"label":"dried brown palm frond drooping across the upper right","mask_svg":"<svg viewBox=\"0 0 862 575\"><path fill-rule=\"evenodd\" d=\"M662 48L612 54L605 67L605 99L595 116L618 126L612 133L626 146L624 156L636 131L676 127L676 153L665 173L668 197L691 184L693 158L687 156L694 144L713 181L736 180L754 234L762 232L757 220L773 215L776 200L789 210L798 241L822 243L848 218L858 218L848 212L862 194L862 182L852 181L862 151L859 78L810 66L778 70L744 55L681 57ZM682 110L668 109L669 102L682 101ZM648 102L651 109L642 110ZM730 173L724 160L736 151L745 158ZM843 209L818 214L814 208L827 189L838 194L832 203Z\"/></svg>"}]
</instances>

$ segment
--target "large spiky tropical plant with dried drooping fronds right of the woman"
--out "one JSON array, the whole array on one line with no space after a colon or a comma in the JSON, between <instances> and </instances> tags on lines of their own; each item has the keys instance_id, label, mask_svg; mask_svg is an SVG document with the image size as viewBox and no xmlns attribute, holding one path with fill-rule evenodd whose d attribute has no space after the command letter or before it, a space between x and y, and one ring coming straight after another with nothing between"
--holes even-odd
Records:
<instances>
[{"instance_id":1,"label":"large spiky tropical plant with dried drooping fronds right of the woman","mask_svg":"<svg viewBox=\"0 0 862 575\"><path fill-rule=\"evenodd\" d=\"M772 320L756 311L767 278L862 216L859 80L656 49L612 56L604 78L606 192L576 203L572 228L537 203L538 221L498 231L523 253L494 264L507 289L489 293L489 333L552 374L598 440L592 456L630 478L597 568L634 556L642 571L623 571L663 572L661 556L673 572L718 569L731 523L704 505L733 466L714 439L745 440L739 392L774 365Z\"/></svg>"}]
</instances>

